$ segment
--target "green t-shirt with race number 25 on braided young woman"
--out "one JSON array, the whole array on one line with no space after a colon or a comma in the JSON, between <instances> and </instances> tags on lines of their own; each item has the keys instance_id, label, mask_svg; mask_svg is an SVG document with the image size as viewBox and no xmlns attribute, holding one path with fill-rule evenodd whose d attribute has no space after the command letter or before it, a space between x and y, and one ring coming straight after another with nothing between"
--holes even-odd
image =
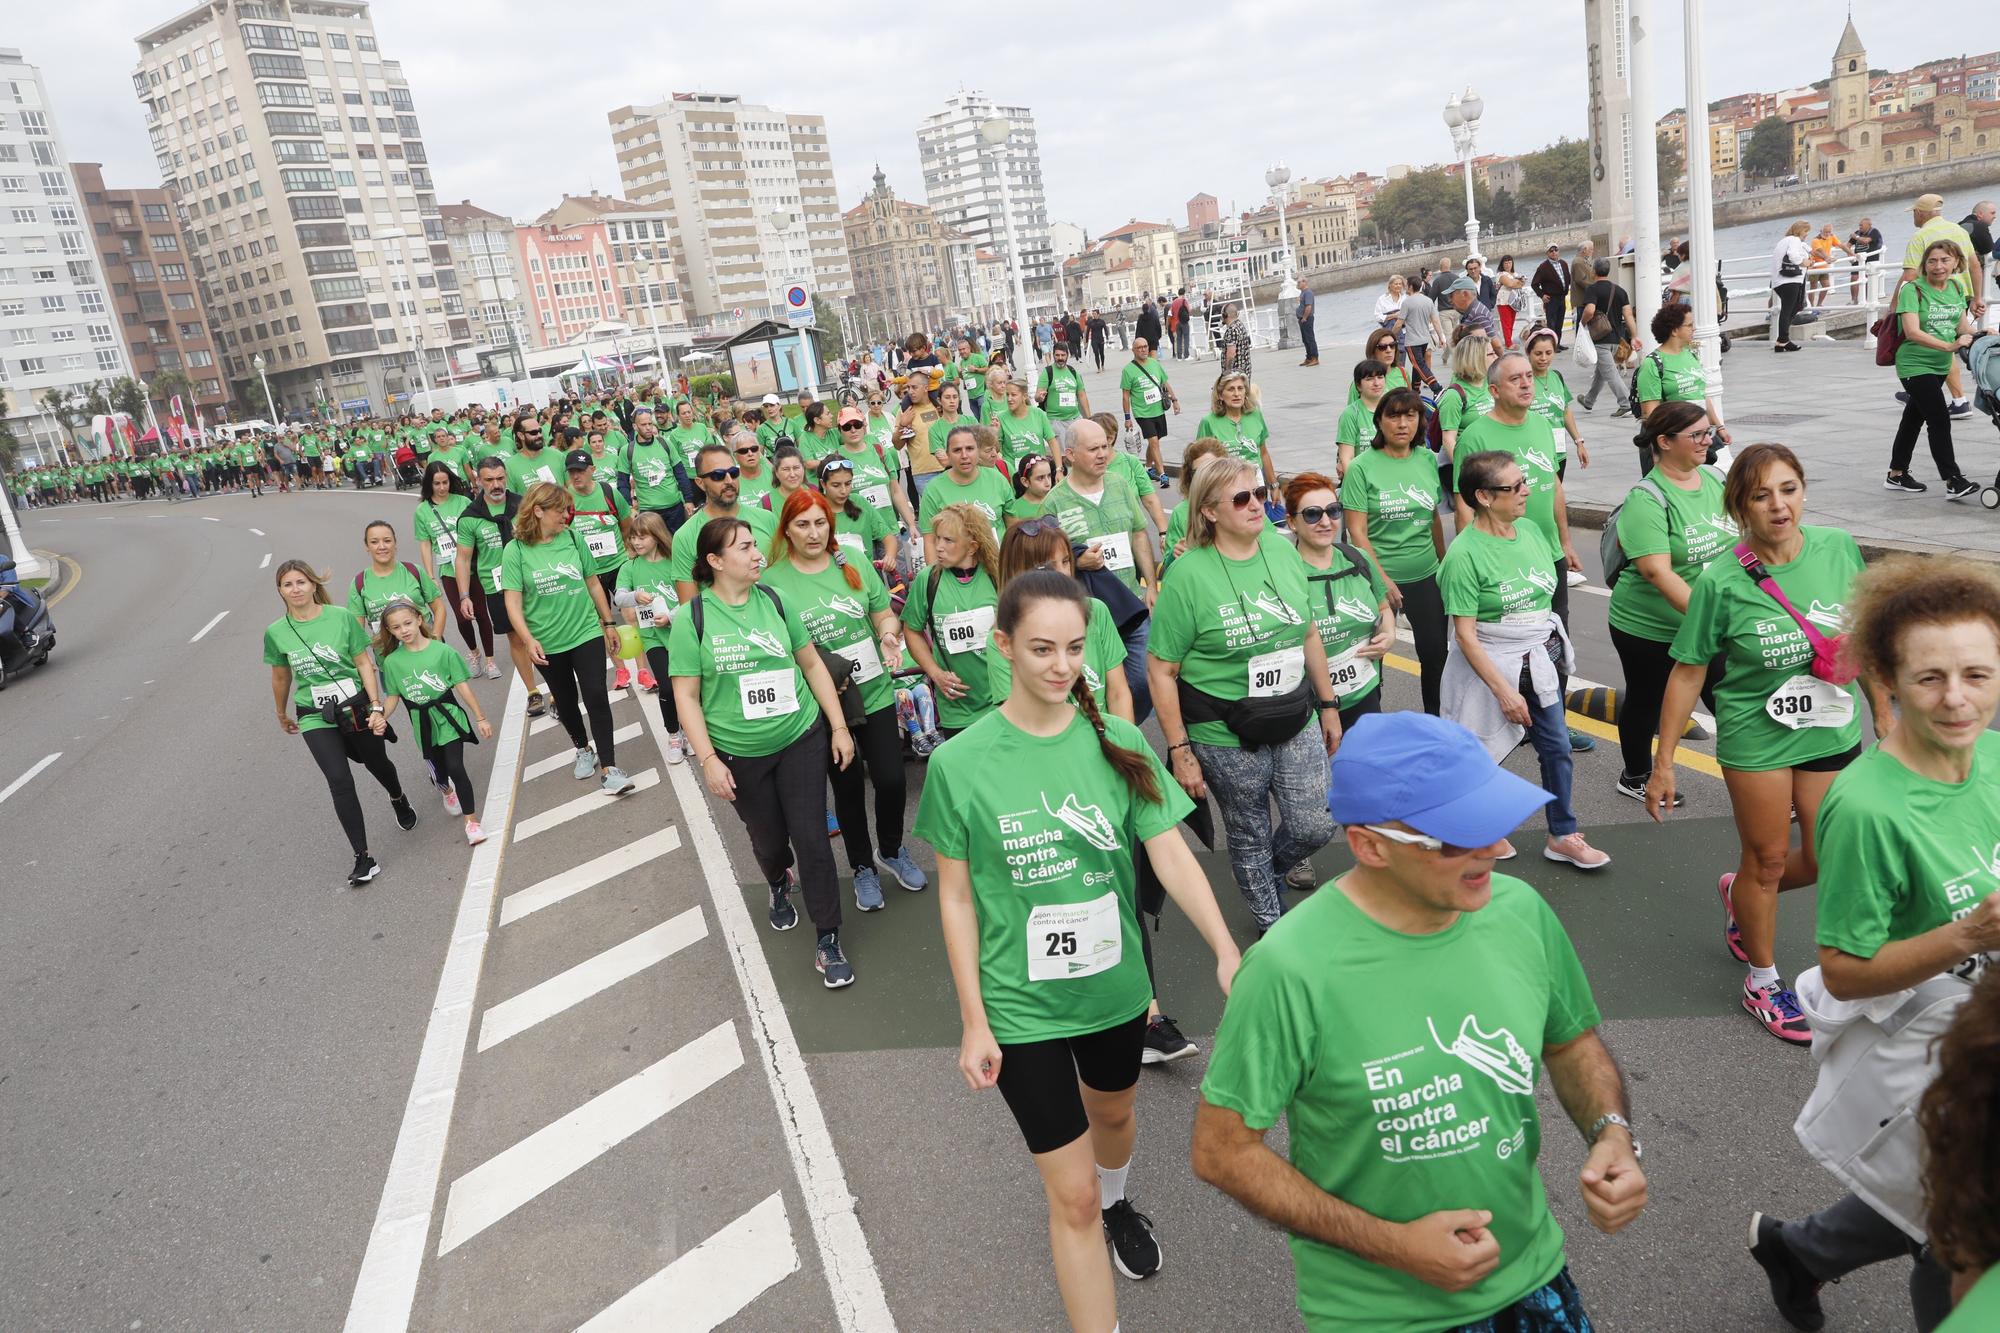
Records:
<instances>
[{"instance_id":1,"label":"green t-shirt with race number 25 on braided young woman","mask_svg":"<svg viewBox=\"0 0 2000 1333\"><path fill-rule=\"evenodd\" d=\"M914 833L970 869L996 1041L1102 1033L1152 999L1132 849L1194 807L1136 727L1106 715L1104 735L1146 757L1158 801L1126 787L1082 715L1030 737L990 713L930 757Z\"/></svg>"}]
</instances>

